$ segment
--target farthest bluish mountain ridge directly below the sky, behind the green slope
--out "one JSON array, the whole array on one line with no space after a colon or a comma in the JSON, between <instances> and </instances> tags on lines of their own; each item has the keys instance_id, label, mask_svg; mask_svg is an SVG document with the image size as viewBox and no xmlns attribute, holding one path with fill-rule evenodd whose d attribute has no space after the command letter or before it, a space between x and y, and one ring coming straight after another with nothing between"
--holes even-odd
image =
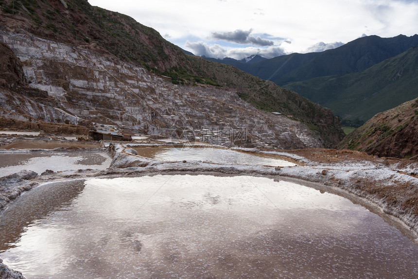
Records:
<instances>
[{"instance_id":1,"label":"farthest bluish mountain ridge directly below the sky, behind the green slope","mask_svg":"<svg viewBox=\"0 0 418 279\"><path fill-rule=\"evenodd\" d=\"M381 38L376 35L358 38L325 52L292 53L254 64L228 59L212 61L233 65L252 75L273 81L279 86L315 77L344 75L367 68L418 45L418 35Z\"/></svg>"}]
</instances>

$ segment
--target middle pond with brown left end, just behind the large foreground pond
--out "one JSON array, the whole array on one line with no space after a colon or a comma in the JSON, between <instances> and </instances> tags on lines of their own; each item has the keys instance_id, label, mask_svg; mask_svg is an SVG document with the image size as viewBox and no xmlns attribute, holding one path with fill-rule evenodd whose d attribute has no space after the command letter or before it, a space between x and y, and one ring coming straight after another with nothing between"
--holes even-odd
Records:
<instances>
[{"instance_id":1,"label":"middle pond with brown left end, just behind the large foreground pond","mask_svg":"<svg viewBox=\"0 0 418 279\"><path fill-rule=\"evenodd\" d=\"M137 146L138 155L160 161L205 161L216 164L265 165L273 167L295 166L274 154L240 152L230 149L200 147Z\"/></svg>"}]
</instances>

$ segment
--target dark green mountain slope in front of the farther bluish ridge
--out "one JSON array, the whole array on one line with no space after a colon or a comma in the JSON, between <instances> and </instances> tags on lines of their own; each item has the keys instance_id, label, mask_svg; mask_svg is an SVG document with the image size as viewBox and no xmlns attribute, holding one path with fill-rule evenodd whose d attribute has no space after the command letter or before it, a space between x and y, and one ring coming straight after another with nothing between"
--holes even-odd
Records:
<instances>
[{"instance_id":1,"label":"dark green mountain slope in front of the farther bluish ridge","mask_svg":"<svg viewBox=\"0 0 418 279\"><path fill-rule=\"evenodd\" d=\"M361 72L286 87L331 108L344 124L360 126L376 113L418 97L418 46Z\"/></svg>"}]
</instances>

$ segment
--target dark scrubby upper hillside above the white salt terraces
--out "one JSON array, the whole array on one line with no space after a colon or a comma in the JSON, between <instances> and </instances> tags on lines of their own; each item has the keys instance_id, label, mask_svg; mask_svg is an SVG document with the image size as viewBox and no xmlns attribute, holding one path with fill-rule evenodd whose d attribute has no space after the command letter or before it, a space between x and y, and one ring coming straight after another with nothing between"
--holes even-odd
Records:
<instances>
[{"instance_id":1,"label":"dark scrubby upper hillside above the white salt terraces","mask_svg":"<svg viewBox=\"0 0 418 279\"><path fill-rule=\"evenodd\" d=\"M258 109L305 123L325 145L335 144L343 136L339 120L329 109L234 67L186 55L131 17L93 7L86 0L15 1L14 13L11 0L1 0L0 6L0 29L8 34L35 35L114 55L125 63L169 76L175 85L211 85L234 91Z\"/></svg>"}]
</instances>

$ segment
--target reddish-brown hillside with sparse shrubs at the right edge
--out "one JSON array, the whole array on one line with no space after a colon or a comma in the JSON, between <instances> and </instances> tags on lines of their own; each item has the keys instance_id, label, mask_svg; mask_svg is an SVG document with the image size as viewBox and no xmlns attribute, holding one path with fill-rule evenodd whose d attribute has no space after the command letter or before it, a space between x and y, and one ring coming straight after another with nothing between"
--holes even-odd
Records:
<instances>
[{"instance_id":1,"label":"reddish-brown hillside with sparse shrubs at the right edge","mask_svg":"<svg viewBox=\"0 0 418 279\"><path fill-rule=\"evenodd\" d=\"M340 147L379 157L417 157L418 98L375 115Z\"/></svg>"}]
</instances>

